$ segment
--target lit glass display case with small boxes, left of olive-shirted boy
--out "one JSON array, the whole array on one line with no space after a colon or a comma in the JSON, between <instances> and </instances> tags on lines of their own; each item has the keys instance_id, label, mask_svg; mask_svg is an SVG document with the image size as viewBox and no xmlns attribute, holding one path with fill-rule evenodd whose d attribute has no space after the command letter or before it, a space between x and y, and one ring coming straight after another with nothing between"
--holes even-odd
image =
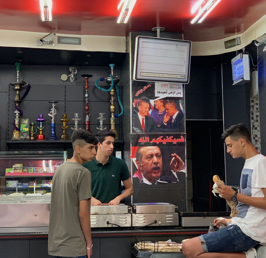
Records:
<instances>
[{"instance_id":1,"label":"lit glass display case with small boxes, left of olive-shirted boy","mask_svg":"<svg viewBox=\"0 0 266 258\"><path fill-rule=\"evenodd\" d=\"M0 152L0 233L48 232L54 172L66 151Z\"/></svg>"}]
</instances>

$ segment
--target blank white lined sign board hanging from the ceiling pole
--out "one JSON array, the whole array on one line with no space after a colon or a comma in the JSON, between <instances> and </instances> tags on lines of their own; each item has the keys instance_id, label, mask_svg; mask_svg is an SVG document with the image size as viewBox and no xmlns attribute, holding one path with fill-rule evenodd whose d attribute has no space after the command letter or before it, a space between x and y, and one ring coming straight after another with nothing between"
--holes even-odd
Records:
<instances>
[{"instance_id":1,"label":"blank white lined sign board hanging from the ceiling pole","mask_svg":"<svg viewBox=\"0 0 266 258\"><path fill-rule=\"evenodd\" d=\"M188 83L191 42L136 37L134 80Z\"/></svg>"}]
</instances>

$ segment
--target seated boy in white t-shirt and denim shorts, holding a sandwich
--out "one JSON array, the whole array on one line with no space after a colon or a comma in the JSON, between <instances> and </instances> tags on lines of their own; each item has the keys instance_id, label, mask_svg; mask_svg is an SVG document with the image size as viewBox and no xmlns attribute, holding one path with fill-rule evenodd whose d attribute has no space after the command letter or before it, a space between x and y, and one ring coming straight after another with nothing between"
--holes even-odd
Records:
<instances>
[{"instance_id":1,"label":"seated boy in white t-shirt and denim shorts, holding a sandwich","mask_svg":"<svg viewBox=\"0 0 266 258\"><path fill-rule=\"evenodd\" d=\"M238 201L239 214L232 219L215 219L214 225L227 227L184 242L182 250L187 258L253 258L253 247L266 242L266 157L257 152L243 123L225 130L222 140L233 158L245 159L241 193L217 184L222 198Z\"/></svg>"}]
</instances>

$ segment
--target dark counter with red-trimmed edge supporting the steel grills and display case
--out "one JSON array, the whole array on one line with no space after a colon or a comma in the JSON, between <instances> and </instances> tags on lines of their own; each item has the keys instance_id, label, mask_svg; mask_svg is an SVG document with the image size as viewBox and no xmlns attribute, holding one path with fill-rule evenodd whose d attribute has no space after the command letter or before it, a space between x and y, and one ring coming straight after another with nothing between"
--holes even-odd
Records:
<instances>
[{"instance_id":1,"label":"dark counter with red-trimmed edge supporting the steel grills and display case","mask_svg":"<svg viewBox=\"0 0 266 258\"><path fill-rule=\"evenodd\" d=\"M180 242L208 232L208 227L92 228L92 258L131 258L132 243L144 241ZM1 257L52 258L47 254L48 233L1 233Z\"/></svg>"}]
</instances>

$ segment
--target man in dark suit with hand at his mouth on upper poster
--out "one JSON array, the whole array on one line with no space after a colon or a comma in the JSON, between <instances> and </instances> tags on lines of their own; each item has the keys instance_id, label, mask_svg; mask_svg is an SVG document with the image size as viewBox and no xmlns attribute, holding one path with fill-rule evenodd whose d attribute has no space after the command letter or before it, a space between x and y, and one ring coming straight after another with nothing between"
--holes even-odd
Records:
<instances>
[{"instance_id":1,"label":"man in dark suit with hand at his mouth on upper poster","mask_svg":"<svg viewBox=\"0 0 266 258\"><path fill-rule=\"evenodd\" d=\"M164 120L160 125L160 128L166 129L168 121L172 119L171 126L169 129L165 130L168 132L183 133L185 132L184 126L184 114L180 109L179 101L169 100L164 105L166 110L166 115Z\"/></svg>"}]
</instances>

